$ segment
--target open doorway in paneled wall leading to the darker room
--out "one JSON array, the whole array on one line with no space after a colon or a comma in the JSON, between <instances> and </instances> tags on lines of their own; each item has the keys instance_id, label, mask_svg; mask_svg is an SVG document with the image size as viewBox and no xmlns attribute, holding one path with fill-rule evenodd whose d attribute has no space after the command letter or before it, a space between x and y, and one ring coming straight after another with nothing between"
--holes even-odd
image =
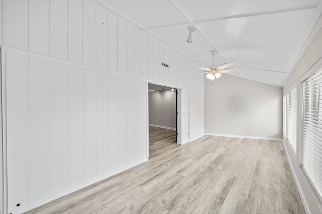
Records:
<instances>
[{"instance_id":1,"label":"open doorway in paneled wall leading to the darker room","mask_svg":"<svg viewBox=\"0 0 322 214\"><path fill-rule=\"evenodd\" d=\"M177 88L148 84L148 158L181 144L179 94Z\"/></svg>"}]
</instances>

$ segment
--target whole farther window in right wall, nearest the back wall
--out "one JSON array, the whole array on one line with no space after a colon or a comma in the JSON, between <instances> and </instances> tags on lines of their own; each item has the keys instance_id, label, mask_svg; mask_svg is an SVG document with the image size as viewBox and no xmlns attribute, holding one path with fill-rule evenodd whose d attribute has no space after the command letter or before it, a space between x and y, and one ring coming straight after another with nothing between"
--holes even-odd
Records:
<instances>
[{"instance_id":1,"label":"whole farther window in right wall, nearest the back wall","mask_svg":"<svg viewBox=\"0 0 322 214\"><path fill-rule=\"evenodd\" d=\"M296 154L296 86L283 96L283 132Z\"/></svg>"}]
</instances>

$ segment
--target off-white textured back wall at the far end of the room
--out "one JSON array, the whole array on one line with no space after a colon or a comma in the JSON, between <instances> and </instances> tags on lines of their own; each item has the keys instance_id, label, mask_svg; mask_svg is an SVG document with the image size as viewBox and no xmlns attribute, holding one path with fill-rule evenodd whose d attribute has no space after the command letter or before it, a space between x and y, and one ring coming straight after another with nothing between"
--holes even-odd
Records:
<instances>
[{"instance_id":1,"label":"off-white textured back wall at the far end of the room","mask_svg":"<svg viewBox=\"0 0 322 214\"><path fill-rule=\"evenodd\" d=\"M231 75L205 78L205 133L282 138L282 90Z\"/></svg>"}]
</instances>

